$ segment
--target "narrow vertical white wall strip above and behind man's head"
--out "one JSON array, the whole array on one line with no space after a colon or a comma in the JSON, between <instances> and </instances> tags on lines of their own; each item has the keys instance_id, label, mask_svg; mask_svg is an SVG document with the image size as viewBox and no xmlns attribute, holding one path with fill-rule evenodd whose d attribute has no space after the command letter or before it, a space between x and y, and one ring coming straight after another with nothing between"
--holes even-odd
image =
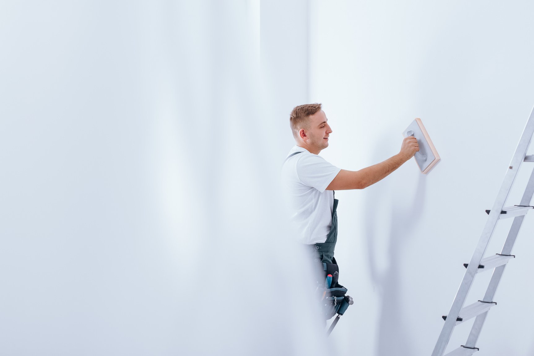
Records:
<instances>
[{"instance_id":1,"label":"narrow vertical white wall strip above and behind man's head","mask_svg":"<svg viewBox=\"0 0 534 356\"><path fill-rule=\"evenodd\" d=\"M293 107L309 97L309 6L305 0L262 1L260 6L260 62L263 99L277 125L281 145L272 153L284 160L294 145L289 128Z\"/></svg>"}]
</instances>

